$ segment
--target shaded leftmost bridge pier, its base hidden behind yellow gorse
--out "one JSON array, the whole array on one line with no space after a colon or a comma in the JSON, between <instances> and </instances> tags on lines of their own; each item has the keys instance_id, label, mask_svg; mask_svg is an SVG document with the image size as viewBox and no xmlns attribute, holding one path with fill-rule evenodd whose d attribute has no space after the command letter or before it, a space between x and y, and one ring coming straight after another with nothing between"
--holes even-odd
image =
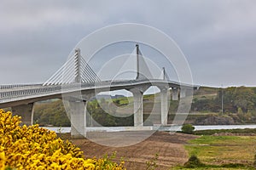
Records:
<instances>
[{"instance_id":1,"label":"shaded leftmost bridge pier, its base hidden behind yellow gorse","mask_svg":"<svg viewBox=\"0 0 256 170\"><path fill-rule=\"evenodd\" d=\"M21 116L21 125L33 124L34 104L13 106L12 112L14 115Z\"/></svg>"}]
</instances>

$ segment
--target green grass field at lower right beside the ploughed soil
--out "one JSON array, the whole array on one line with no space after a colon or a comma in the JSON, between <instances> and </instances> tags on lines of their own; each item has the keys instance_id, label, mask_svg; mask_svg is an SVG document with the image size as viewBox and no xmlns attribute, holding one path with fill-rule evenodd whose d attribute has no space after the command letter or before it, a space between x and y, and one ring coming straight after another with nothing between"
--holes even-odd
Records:
<instances>
[{"instance_id":1,"label":"green grass field at lower right beside the ploughed soil","mask_svg":"<svg viewBox=\"0 0 256 170\"><path fill-rule=\"evenodd\" d=\"M189 141L185 149L206 167L177 169L253 169L255 136L201 136Z\"/></svg>"}]
</instances>

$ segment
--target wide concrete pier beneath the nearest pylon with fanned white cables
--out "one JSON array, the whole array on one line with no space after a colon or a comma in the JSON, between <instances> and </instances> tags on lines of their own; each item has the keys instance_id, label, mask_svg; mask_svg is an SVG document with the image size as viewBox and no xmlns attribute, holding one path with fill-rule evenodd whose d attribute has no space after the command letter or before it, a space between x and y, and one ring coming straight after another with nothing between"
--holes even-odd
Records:
<instances>
[{"instance_id":1,"label":"wide concrete pier beneath the nearest pylon with fanned white cables","mask_svg":"<svg viewBox=\"0 0 256 170\"><path fill-rule=\"evenodd\" d=\"M86 102L69 101L71 137L74 139L86 137Z\"/></svg>"}]
</instances>

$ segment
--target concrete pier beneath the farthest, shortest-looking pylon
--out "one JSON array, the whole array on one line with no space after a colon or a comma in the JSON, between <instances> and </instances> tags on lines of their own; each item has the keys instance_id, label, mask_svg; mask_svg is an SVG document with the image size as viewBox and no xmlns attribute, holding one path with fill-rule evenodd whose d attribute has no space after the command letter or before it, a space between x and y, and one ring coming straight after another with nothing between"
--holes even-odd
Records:
<instances>
[{"instance_id":1,"label":"concrete pier beneath the farthest, shortest-looking pylon","mask_svg":"<svg viewBox=\"0 0 256 170\"><path fill-rule=\"evenodd\" d=\"M161 99L161 125L166 126L168 120L168 111L169 111L169 99L168 99L168 89L160 89L160 99Z\"/></svg>"}]
</instances>

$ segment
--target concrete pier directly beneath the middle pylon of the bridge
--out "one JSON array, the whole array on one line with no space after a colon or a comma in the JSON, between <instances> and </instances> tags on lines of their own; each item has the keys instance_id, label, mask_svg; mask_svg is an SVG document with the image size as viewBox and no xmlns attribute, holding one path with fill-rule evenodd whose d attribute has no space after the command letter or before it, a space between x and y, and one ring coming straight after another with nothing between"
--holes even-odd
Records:
<instances>
[{"instance_id":1,"label":"concrete pier directly beneath the middle pylon of the bridge","mask_svg":"<svg viewBox=\"0 0 256 170\"><path fill-rule=\"evenodd\" d=\"M143 93L137 89L131 90L134 102L134 126L143 126Z\"/></svg>"}]
</instances>

